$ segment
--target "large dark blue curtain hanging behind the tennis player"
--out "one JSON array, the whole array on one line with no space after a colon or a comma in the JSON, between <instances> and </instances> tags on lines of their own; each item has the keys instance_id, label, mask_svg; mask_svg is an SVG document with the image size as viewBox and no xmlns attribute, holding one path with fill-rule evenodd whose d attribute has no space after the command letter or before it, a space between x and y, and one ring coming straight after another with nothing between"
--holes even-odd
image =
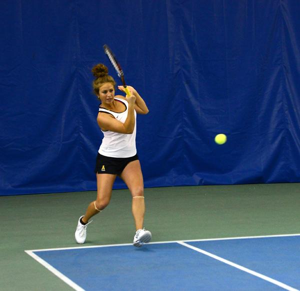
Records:
<instances>
[{"instance_id":1,"label":"large dark blue curtain hanging behind the tennis player","mask_svg":"<svg viewBox=\"0 0 300 291\"><path fill-rule=\"evenodd\" d=\"M0 194L96 188L91 67L119 83L104 43L150 110L146 187L300 181L299 15L298 0L2 0Z\"/></svg>"}]
</instances>

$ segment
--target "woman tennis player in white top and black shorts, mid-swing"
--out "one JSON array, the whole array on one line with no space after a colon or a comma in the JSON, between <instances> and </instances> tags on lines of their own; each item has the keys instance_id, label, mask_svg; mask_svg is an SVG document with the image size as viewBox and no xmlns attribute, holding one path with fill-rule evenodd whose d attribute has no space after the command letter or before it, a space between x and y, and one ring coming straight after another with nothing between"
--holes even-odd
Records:
<instances>
[{"instance_id":1,"label":"woman tennis player in white top and black shorts, mid-swing","mask_svg":"<svg viewBox=\"0 0 300 291\"><path fill-rule=\"evenodd\" d=\"M147 114L149 110L131 86L127 86L130 96L114 95L116 84L105 65L95 65L92 73L95 76L93 90L101 101L97 123L104 137L95 165L97 197L90 202L85 214L79 217L75 239L77 243L84 243L86 228L91 222L88 220L108 205L112 185L118 175L132 195L132 215L136 227L133 245L139 247L150 241L151 232L143 228L145 203L143 177L135 147L136 113ZM118 86L118 89L124 91L123 86Z\"/></svg>"}]
</instances>

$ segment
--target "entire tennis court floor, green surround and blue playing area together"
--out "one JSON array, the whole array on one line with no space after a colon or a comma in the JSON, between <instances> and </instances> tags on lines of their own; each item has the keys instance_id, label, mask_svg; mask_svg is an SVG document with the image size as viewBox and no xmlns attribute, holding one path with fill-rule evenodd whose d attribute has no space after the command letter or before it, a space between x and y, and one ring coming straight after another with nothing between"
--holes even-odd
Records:
<instances>
[{"instance_id":1,"label":"entire tennis court floor, green surround and blue playing area together","mask_svg":"<svg viewBox=\"0 0 300 291\"><path fill-rule=\"evenodd\" d=\"M152 240L141 249L127 189L113 190L76 244L95 195L0 196L0 289L300 289L298 183L146 188Z\"/></svg>"}]
</instances>

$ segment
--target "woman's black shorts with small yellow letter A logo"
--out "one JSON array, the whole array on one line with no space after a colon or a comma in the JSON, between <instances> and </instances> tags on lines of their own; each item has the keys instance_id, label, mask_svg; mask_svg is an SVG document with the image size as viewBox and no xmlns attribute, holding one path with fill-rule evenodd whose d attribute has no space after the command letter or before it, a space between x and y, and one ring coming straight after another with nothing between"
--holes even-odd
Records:
<instances>
[{"instance_id":1,"label":"woman's black shorts with small yellow letter A logo","mask_svg":"<svg viewBox=\"0 0 300 291\"><path fill-rule=\"evenodd\" d=\"M137 153L130 157L110 157L98 153L94 172L119 175L130 161L136 159L138 159Z\"/></svg>"}]
</instances>

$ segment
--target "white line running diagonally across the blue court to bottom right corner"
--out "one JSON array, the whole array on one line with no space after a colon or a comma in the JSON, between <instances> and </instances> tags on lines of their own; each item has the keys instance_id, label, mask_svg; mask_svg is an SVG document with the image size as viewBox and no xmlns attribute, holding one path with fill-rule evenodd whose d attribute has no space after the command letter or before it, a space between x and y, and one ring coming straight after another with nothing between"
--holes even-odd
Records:
<instances>
[{"instance_id":1,"label":"white line running diagonally across the blue court to bottom right corner","mask_svg":"<svg viewBox=\"0 0 300 291\"><path fill-rule=\"evenodd\" d=\"M191 249L193 249L193 250L195 250L195 251L198 251L198 252L200 252L200 253L202 253L202 254L208 255L208 256L210 256L210 257L216 259L216 260L219 260L219 261L221 261L221 262L223 262L223 263L226 263L226 264L228 264L228 265L231 265L231 266L233 266L233 267L235 267L235 268L238 268L238 269L240 269L240 270L242 270L242 271L244 271L244 272L247 272L247 273L249 273L249 274L251 274L251 275L254 275L254 276L256 276L256 277L259 277L259 278L261 278L261 279L263 279L263 280L266 280L266 281L268 281L268 282L270 282L270 283L273 283L273 284L275 284L275 285L277 285L277 286L279 286L279 287L281 287L281 288L283 288L283 289L286 289L286 290L289 290L289 291L299 291L298 289L295 289L295 288L293 288L293 287L291 287L291 286L288 286L288 285L286 285L286 284L284 284L284 283L282 283L282 282L279 282L279 281L277 281L277 280L275 280L275 279L272 279L272 278L270 278L270 277L268 277L268 276L265 276L265 275L263 275L263 274L260 274L260 273L258 273L258 272L255 272L255 271L253 271L253 270L251 270L251 269L248 269L248 268L246 268L246 267L243 267L243 266L241 266L241 265L239 265L239 264L237 264L237 263L234 263L234 262L232 262L232 261L230 261L230 260L227 260L227 259L225 259L225 258L222 258L222 257L220 257L220 256L217 256L217 255L215 255L215 254L213 254L213 253L211 253L211 252L205 251L205 250L203 250L203 249L201 249L201 248L198 248L198 247L195 247L195 246L193 246L193 245L187 244L187 243L185 243L185 242L183 242L183 241L177 241L177 243L179 243L179 244L181 244L181 245L183 245L183 246L186 246L186 247L188 247L188 248L191 248Z\"/></svg>"}]
</instances>

